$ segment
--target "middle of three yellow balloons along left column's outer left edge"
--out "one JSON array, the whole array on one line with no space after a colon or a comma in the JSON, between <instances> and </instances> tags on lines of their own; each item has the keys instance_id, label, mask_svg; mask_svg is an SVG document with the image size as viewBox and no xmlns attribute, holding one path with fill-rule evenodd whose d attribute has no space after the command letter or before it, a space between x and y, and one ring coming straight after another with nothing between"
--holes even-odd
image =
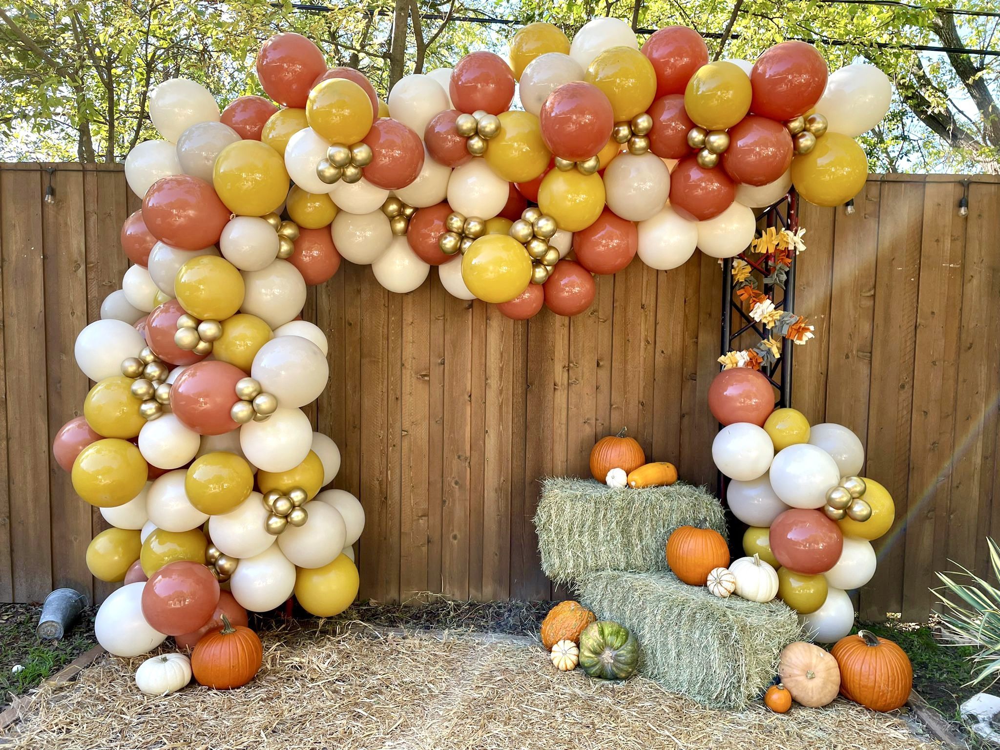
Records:
<instances>
[{"instance_id":1,"label":"middle of three yellow balloons along left column's outer left edge","mask_svg":"<svg viewBox=\"0 0 1000 750\"><path fill-rule=\"evenodd\" d=\"M73 462L73 490L98 508L115 508L134 498L146 486L149 464L127 440L96 440Z\"/></svg>"}]
</instances>

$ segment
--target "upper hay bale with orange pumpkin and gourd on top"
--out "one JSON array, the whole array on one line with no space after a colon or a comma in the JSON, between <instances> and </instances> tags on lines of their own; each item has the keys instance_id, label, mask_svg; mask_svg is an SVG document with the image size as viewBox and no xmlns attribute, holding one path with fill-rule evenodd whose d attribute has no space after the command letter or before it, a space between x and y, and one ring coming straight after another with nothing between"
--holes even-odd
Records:
<instances>
[{"instance_id":1,"label":"upper hay bale with orange pumpkin and gourd on top","mask_svg":"<svg viewBox=\"0 0 1000 750\"><path fill-rule=\"evenodd\" d=\"M634 490L550 477L534 520L542 570L556 583L598 570L666 570L667 537L680 526L705 522L726 535L719 501L683 482Z\"/></svg>"}]
</instances>

